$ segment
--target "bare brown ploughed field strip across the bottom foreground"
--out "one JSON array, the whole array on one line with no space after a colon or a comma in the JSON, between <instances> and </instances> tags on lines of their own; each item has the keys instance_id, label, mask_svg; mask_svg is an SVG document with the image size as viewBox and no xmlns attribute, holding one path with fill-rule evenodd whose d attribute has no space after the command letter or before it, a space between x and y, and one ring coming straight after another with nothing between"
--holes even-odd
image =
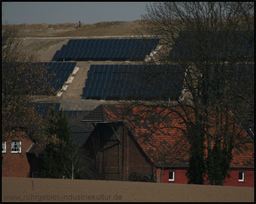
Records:
<instances>
[{"instance_id":1,"label":"bare brown ploughed field strip across the bottom foreground","mask_svg":"<svg viewBox=\"0 0 256 204\"><path fill-rule=\"evenodd\" d=\"M254 188L2 177L2 202L254 202Z\"/></svg>"}]
</instances>

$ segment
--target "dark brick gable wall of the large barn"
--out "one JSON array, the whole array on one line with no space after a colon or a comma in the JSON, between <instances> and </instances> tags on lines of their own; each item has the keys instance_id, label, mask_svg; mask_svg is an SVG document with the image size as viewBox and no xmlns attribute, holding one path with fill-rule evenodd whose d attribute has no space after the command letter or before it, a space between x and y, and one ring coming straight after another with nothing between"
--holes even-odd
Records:
<instances>
[{"instance_id":1,"label":"dark brick gable wall of the large barn","mask_svg":"<svg viewBox=\"0 0 256 204\"><path fill-rule=\"evenodd\" d=\"M85 146L87 150L91 149L90 154L102 177L105 180L126 181L130 173L136 172L148 179L155 179L156 168L152 166L125 126L119 127L119 142L103 140L105 125L97 125Z\"/></svg>"}]
</instances>

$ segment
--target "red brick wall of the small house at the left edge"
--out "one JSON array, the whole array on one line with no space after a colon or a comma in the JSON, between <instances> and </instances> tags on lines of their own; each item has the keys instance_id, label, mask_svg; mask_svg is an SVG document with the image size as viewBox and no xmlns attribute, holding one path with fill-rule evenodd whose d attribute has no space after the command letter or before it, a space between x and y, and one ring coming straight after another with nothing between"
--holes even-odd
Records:
<instances>
[{"instance_id":1,"label":"red brick wall of the small house at the left edge","mask_svg":"<svg viewBox=\"0 0 256 204\"><path fill-rule=\"evenodd\" d=\"M6 153L2 153L2 177L30 177L26 151L33 142L24 138L14 140L22 141L21 153L11 153L11 140L6 141Z\"/></svg>"}]
</instances>

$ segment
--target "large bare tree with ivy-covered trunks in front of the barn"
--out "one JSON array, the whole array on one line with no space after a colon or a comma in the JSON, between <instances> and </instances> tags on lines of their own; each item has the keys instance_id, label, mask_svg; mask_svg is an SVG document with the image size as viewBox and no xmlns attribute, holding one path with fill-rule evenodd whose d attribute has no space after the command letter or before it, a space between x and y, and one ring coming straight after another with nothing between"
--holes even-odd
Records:
<instances>
[{"instance_id":1,"label":"large bare tree with ivy-covered trunks in front of the barn","mask_svg":"<svg viewBox=\"0 0 256 204\"><path fill-rule=\"evenodd\" d=\"M146 10L143 27L160 43L131 78L156 94L125 105L176 113L190 146L189 183L203 184L207 173L222 185L232 150L252 142L240 124L254 120L254 3L156 2Z\"/></svg>"}]
</instances>

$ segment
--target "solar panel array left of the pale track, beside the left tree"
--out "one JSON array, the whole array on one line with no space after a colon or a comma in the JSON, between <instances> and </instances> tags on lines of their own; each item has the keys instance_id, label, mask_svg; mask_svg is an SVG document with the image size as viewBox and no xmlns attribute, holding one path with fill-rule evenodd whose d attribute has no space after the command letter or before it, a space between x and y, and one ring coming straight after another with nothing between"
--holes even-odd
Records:
<instances>
[{"instance_id":1,"label":"solar panel array left of the pale track, beside the left tree","mask_svg":"<svg viewBox=\"0 0 256 204\"><path fill-rule=\"evenodd\" d=\"M47 70L47 76L54 73L51 79L51 86L55 91L60 90L63 87L63 84L69 78L69 75L73 72L76 66L76 62L38 62L37 66L44 65L49 67Z\"/></svg>"}]
</instances>

